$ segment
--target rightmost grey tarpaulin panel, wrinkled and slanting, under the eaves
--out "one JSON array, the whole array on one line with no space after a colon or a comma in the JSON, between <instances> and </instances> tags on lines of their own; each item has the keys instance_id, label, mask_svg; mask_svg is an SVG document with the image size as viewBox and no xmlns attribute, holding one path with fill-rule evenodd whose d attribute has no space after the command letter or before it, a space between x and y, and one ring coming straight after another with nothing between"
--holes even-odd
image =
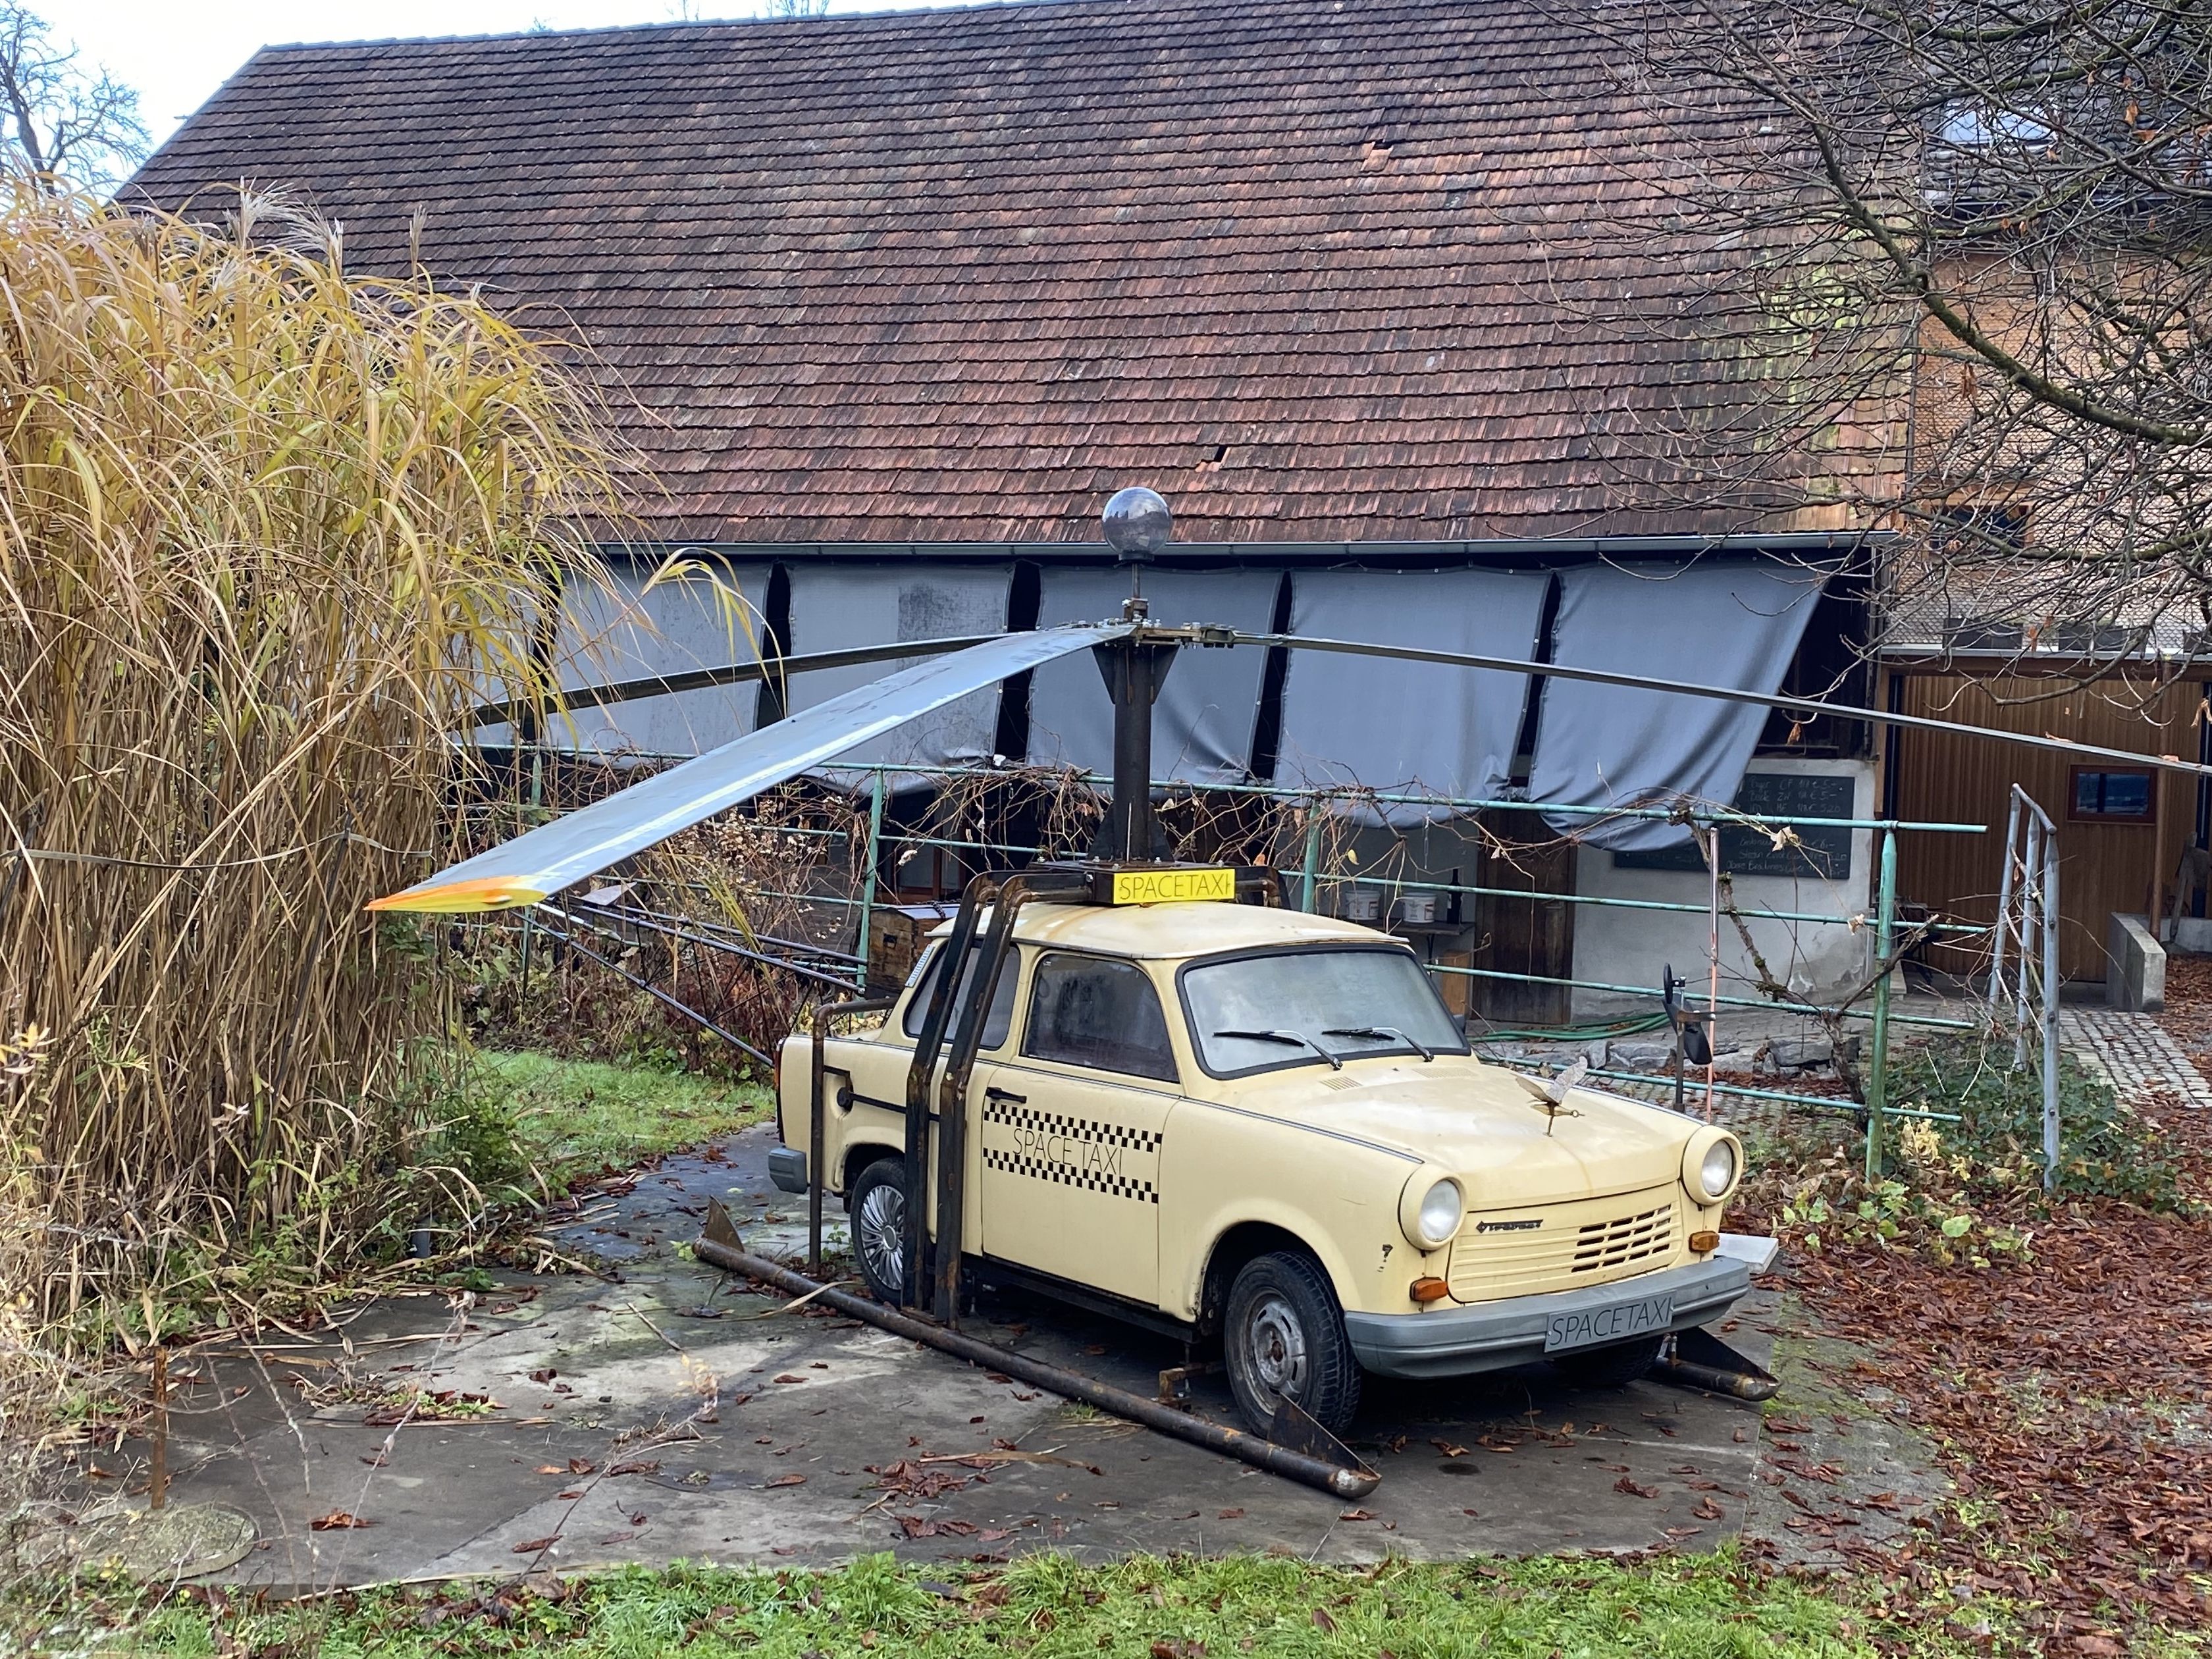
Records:
<instances>
[{"instance_id":1,"label":"rightmost grey tarpaulin panel, wrinkled and slanting, under the eaves","mask_svg":"<svg viewBox=\"0 0 2212 1659\"><path fill-rule=\"evenodd\" d=\"M1628 668L1655 679L1772 692L1805 637L1823 571L1792 564L1588 564L1559 573L1551 659ZM1548 805L1728 803L1767 710L1708 697L1668 697L1575 679L1544 681L1528 799ZM1655 818L1593 823L1546 814L1615 852L1690 838Z\"/></svg>"}]
</instances>

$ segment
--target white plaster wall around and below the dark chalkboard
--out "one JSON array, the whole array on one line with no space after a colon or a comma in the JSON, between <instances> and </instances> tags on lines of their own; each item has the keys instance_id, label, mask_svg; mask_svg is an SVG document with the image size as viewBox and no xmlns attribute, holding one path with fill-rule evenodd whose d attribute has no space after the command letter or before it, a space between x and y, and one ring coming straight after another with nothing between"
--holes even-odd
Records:
<instances>
[{"instance_id":1,"label":"white plaster wall around and below the dark chalkboard","mask_svg":"<svg viewBox=\"0 0 2212 1659\"><path fill-rule=\"evenodd\" d=\"M1785 772L1816 776L1851 776L1851 816L1874 816L1874 765L1867 761L1787 761L1756 759L1752 772ZM1604 1018L1632 1006L1650 1006L1666 962L1690 982L1692 1002L1703 1000L1710 929L1705 907L1710 880L1705 874L1677 869L1615 869L1613 854L1584 847L1577 891L1599 898L1657 898L1697 905L1701 914L1608 909L1577 905L1575 909L1575 978L1608 984L1652 987L1641 995L1575 991L1575 1018ZM1785 876L1736 876L1739 909L1794 911L1803 916L1871 916L1874 832L1851 832L1851 874L1829 883ZM1874 956L1871 922L1838 927L1834 922L1778 922L1745 918L1759 953L1774 978L1807 1002L1827 1002L1845 989L1856 989ZM1759 975L1734 922L1721 916L1721 995L1756 998Z\"/></svg>"}]
</instances>

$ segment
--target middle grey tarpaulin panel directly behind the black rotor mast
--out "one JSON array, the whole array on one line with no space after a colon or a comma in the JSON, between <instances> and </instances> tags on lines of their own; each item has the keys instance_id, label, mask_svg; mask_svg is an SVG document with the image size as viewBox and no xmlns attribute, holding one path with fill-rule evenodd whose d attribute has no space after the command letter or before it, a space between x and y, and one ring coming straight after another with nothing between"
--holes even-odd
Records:
<instances>
[{"instance_id":1,"label":"middle grey tarpaulin panel directly behind the black rotor mast","mask_svg":"<svg viewBox=\"0 0 2212 1659\"><path fill-rule=\"evenodd\" d=\"M1146 571L1152 622L1219 622L1265 633L1274 622L1276 571ZM1119 617L1128 571L1046 571L1037 626ZM1259 717L1263 650L1179 650L1152 717L1152 776L1179 783L1241 783ZM1068 657L1033 677L1029 759L1113 772L1113 703L1097 664Z\"/></svg>"}]
</instances>

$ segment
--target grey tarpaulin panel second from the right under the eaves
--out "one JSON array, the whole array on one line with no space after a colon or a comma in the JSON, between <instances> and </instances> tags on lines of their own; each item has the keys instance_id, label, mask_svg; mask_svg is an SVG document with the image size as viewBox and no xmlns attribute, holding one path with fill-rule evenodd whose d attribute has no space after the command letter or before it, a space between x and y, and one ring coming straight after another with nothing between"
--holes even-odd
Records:
<instances>
[{"instance_id":1,"label":"grey tarpaulin panel second from the right under the eaves","mask_svg":"<svg viewBox=\"0 0 2212 1659\"><path fill-rule=\"evenodd\" d=\"M1551 577L1522 571L1298 571L1290 630L1394 646L1528 657ZM1290 653L1276 783L1358 783L1387 794L1495 794L1513 768L1526 675L1440 664ZM1380 807L1411 825L1449 807ZM1363 812L1367 821L1374 814Z\"/></svg>"}]
</instances>

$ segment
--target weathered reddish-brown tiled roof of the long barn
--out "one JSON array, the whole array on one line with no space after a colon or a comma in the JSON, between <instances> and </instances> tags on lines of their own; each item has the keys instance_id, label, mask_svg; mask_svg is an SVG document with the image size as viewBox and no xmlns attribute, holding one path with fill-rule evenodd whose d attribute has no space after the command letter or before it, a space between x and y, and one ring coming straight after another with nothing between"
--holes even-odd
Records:
<instances>
[{"instance_id":1,"label":"weathered reddish-brown tiled roof of the long barn","mask_svg":"<svg viewBox=\"0 0 2212 1659\"><path fill-rule=\"evenodd\" d=\"M1095 540L1126 482L1223 542L1739 529L1652 460L1725 352L1597 53L1526 0L279 46L137 190L299 186L573 330L672 540Z\"/></svg>"}]
</instances>

